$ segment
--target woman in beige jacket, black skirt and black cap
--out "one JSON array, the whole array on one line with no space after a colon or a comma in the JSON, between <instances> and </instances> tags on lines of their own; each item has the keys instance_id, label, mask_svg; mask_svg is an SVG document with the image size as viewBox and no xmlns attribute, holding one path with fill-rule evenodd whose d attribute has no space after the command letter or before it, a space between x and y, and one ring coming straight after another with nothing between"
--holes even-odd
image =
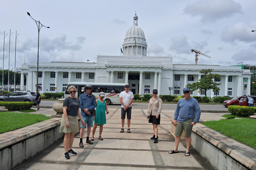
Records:
<instances>
[{"instance_id":1,"label":"woman in beige jacket, black skirt and black cap","mask_svg":"<svg viewBox=\"0 0 256 170\"><path fill-rule=\"evenodd\" d=\"M150 139L155 139L154 143L158 143L158 128L160 125L160 113L162 111L162 99L157 97L157 89L153 90L153 97L149 99L147 118L149 118L148 123L152 123L154 135Z\"/></svg>"}]
</instances>

